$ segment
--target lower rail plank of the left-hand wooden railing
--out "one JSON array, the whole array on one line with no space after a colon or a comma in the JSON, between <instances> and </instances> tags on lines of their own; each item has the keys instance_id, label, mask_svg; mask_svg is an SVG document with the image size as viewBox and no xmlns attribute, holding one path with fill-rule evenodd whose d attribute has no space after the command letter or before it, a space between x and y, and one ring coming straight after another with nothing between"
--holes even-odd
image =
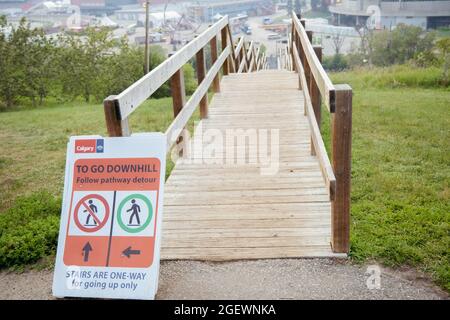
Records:
<instances>
[{"instance_id":1,"label":"lower rail plank of the left-hand wooden railing","mask_svg":"<svg viewBox=\"0 0 450 320\"><path fill-rule=\"evenodd\" d=\"M182 111L178 114L178 116L166 130L165 134L167 137L167 150L170 150L170 148L173 146L173 144L180 136L181 131L186 126L187 122L189 121L189 118L191 117L197 105L200 103L202 97L208 92L208 88L210 87L212 81L214 80L214 77L219 72L219 69L222 67L225 60L228 58L229 54L230 54L230 47L226 47L225 50L221 53L219 59L206 74L205 79L198 86L197 90L195 90L194 94L186 103L185 107L182 109Z\"/></svg>"}]
</instances>

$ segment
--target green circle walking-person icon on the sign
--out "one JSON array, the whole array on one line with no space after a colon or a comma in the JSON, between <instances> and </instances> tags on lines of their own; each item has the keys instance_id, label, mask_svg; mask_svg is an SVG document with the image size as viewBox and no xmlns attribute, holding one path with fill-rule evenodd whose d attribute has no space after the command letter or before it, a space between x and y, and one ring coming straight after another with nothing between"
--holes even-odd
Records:
<instances>
[{"instance_id":1,"label":"green circle walking-person icon on the sign","mask_svg":"<svg viewBox=\"0 0 450 320\"><path fill-rule=\"evenodd\" d=\"M152 221L152 217L152 204L142 194L131 194L119 204L117 221L119 226L127 232L138 233L145 230Z\"/></svg>"}]
</instances>

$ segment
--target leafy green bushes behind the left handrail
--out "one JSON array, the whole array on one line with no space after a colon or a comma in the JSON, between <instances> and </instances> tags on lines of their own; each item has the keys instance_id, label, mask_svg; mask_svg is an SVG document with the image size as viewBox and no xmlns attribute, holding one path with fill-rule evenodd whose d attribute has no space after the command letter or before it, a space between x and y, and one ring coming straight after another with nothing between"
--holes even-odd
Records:
<instances>
[{"instance_id":1,"label":"leafy green bushes behind the left handrail","mask_svg":"<svg viewBox=\"0 0 450 320\"><path fill-rule=\"evenodd\" d=\"M0 31L9 27L0 18ZM106 28L87 28L83 36L47 37L25 19L10 32L0 32L0 106L11 107L23 99L41 104L51 95L58 99L101 101L118 94L144 75L144 51L126 38L113 39ZM166 58L159 46L150 48L153 69ZM185 67L187 93L195 90L194 72ZM170 95L164 84L153 96Z\"/></svg>"}]
</instances>

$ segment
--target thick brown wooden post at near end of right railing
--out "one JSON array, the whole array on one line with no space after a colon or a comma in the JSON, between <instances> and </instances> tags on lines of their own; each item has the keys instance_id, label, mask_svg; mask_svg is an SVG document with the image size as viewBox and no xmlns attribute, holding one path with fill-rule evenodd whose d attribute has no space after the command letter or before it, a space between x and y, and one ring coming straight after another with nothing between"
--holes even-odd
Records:
<instances>
[{"instance_id":1,"label":"thick brown wooden post at near end of right railing","mask_svg":"<svg viewBox=\"0 0 450 320\"><path fill-rule=\"evenodd\" d=\"M350 181L352 151L352 88L335 85L336 110L331 114L332 164L336 176L331 204L333 252L348 253L350 246Z\"/></svg>"}]
</instances>

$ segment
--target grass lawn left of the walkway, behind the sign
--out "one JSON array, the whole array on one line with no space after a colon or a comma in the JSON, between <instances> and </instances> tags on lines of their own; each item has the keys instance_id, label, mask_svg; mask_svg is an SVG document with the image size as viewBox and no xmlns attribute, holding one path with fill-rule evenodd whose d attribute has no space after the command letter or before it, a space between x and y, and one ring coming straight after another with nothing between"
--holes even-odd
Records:
<instances>
[{"instance_id":1,"label":"grass lawn left of the walkway, behind the sign","mask_svg":"<svg viewBox=\"0 0 450 320\"><path fill-rule=\"evenodd\" d=\"M196 112L192 119L198 117ZM171 98L148 100L130 117L130 126L133 132L164 132L172 120ZM101 104L49 103L0 113L0 212L17 196L40 190L61 195L68 139L88 134L106 135ZM167 162L170 172L173 163Z\"/></svg>"}]
</instances>

